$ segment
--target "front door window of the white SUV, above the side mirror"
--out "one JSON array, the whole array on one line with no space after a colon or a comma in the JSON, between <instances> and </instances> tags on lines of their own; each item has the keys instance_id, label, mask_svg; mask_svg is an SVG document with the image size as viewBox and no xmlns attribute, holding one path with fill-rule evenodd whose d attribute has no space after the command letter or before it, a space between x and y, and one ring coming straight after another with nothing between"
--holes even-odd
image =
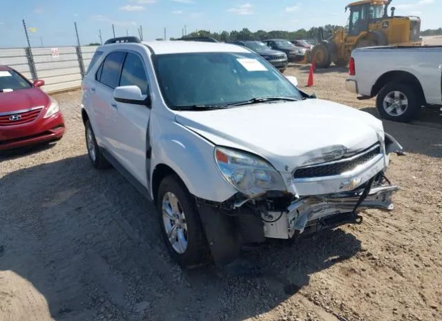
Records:
<instances>
[{"instance_id":1,"label":"front door window of the white SUV, above the side mirror","mask_svg":"<svg viewBox=\"0 0 442 321\"><path fill-rule=\"evenodd\" d=\"M143 95L148 93L146 70L139 55L129 52L122 70L119 86L138 86Z\"/></svg>"}]
</instances>

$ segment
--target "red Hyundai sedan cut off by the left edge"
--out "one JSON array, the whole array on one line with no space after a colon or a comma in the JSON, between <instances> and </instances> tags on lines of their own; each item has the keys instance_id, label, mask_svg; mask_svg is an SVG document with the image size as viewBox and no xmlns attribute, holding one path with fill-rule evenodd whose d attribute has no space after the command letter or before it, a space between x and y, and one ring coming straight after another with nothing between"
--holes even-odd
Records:
<instances>
[{"instance_id":1,"label":"red Hyundai sedan cut off by the left edge","mask_svg":"<svg viewBox=\"0 0 442 321\"><path fill-rule=\"evenodd\" d=\"M0 66L0 150L52 142L64 135L57 101L19 72Z\"/></svg>"}]
</instances>

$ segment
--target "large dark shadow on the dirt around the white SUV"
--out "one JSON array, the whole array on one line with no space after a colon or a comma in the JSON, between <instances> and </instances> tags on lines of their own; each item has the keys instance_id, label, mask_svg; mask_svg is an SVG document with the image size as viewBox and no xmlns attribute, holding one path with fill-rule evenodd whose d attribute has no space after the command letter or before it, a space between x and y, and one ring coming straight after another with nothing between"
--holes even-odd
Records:
<instances>
[{"instance_id":1,"label":"large dark shadow on the dirt around the white SUV","mask_svg":"<svg viewBox=\"0 0 442 321\"><path fill-rule=\"evenodd\" d=\"M243 320L361 249L337 228L317 242L269 242L248 253L259 278L213 265L183 272L166 253L153 205L115 170L95 171L87 155L16 171L0 187L0 276L12 271L30 282L57 321ZM14 293L11 304L24 309L3 313L35 320L26 309L37 299Z\"/></svg>"}]
</instances>

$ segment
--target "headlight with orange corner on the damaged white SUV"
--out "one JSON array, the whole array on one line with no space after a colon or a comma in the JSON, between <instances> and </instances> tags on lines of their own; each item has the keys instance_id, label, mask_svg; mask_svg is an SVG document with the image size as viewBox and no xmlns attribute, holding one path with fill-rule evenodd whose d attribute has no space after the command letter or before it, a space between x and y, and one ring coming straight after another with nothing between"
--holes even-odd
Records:
<instances>
[{"instance_id":1,"label":"headlight with orange corner on the damaged white SUV","mask_svg":"<svg viewBox=\"0 0 442 321\"><path fill-rule=\"evenodd\" d=\"M215 162L227 182L249 197L266 191L287 190L280 173L256 155L217 147Z\"/></svg>"}]
</instances>

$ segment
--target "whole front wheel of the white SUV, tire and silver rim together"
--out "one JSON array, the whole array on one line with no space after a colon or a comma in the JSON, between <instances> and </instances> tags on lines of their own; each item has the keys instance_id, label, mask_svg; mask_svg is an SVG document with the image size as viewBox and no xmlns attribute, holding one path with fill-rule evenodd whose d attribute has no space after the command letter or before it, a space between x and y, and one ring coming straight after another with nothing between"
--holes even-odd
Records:
<instances>
[{"instance_id":1,"label":"whole front wheel of the white SUV, tire and silver rim together","mask_svg":"<svg viewBox=\"0 0 442 321\"><path fill-rule=\"evenodd\" d=\"M208 263L209 245L195 201L176 175L167 176L160 183L157 209L162 235L173 259L183 268Z\"/></svg>"}]
</instances>

